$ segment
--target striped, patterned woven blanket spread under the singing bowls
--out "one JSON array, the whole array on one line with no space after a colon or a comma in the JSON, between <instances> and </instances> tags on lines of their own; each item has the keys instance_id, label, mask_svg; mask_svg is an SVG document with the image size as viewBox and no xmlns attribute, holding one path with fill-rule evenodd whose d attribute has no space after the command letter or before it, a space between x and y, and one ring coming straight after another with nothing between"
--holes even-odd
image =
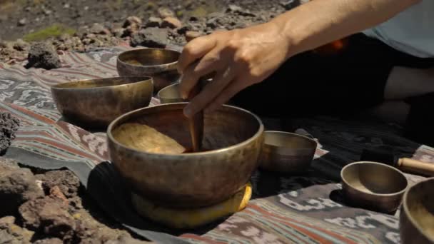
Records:
<instances>
[{"instance_id":1,"label":"striped, patterned woven blanket spread under the singing bowls","mask_svg":"<svg viewBox=\"0 0 434 244\"><path fill-rule=\"evenodd\" d=\"M291 124L311 133L320 146L303 176L257 171L246 210L199 230L174 231L139 218L108 161L104 132L67 123L56 111L49 86L65 81L116 76L116 55L128 46L61 55L51 71L0 64L0 111L21 119L6 153L39 168L69 168L101 208L138 235L161 243L399 243L398 213L355 208L340 195L340 169L368 146L394 146L403 156L434 162L434 149L400 136L400 128L375 121L298 118L266 121L270 129ZM153 98L151 105L158 104ZM270 122L270 123L269 123ZM283 127L282 127L283 125ZM411 183L422 179L407 175Z\"/></svg>"}]
</instances>

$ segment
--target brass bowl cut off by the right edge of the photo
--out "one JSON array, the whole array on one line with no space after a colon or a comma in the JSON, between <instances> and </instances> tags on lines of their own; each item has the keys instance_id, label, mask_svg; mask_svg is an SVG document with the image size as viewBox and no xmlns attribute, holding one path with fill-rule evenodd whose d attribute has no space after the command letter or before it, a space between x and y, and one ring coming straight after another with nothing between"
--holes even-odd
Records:
<instances>
[{"instance_id":1,"label":"brass bowl cut off by the right edge of the photo","mask_svg":"<svg viewBox=\"0 0 434 244\"><path fill-rule=\"evenodd\" d=\"M408 188L400 210L402 243L434 243L434 178Z\"/></svg>"}]
</instances>

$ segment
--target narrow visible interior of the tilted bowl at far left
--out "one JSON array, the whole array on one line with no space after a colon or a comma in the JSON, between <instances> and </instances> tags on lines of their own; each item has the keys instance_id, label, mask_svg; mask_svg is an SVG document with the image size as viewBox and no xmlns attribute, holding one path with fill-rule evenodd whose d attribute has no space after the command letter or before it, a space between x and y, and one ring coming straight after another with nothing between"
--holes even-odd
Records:
<instances>
[{"instance_id":1,"label":"narrow visible interior of the tilted bowl at far left","mask_svg":"<svg viewBox=\"0 0 434 244\"><path fill-rule=\"evenodd\" d=\"M109 86L121 86L129 83L136 83L141 81L148 81L151 77L143 76L128 76L128 77L114 77L114 78L98 78L92 80L83 81L71 81L66 83L60 83L53 88L103 88Z\"/></svg>"}]
</instances>

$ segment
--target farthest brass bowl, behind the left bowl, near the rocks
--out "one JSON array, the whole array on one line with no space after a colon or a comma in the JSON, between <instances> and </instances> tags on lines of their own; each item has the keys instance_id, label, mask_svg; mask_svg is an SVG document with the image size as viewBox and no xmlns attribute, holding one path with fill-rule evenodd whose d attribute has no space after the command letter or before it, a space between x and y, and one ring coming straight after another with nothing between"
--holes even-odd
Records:
<instances>
[{"instance_id":1,"label":"farthest brass bowl, behind the left bowl, near the rocks","mask_svg":"<svg viewBox=\"0 0 434 244\"><path fill-rule=\"evenodd\" d=\"M133 49L118 55L119 76L151 76L154 92L179 80L180 52L171 49Z\"/></svg>"}]
</instances>

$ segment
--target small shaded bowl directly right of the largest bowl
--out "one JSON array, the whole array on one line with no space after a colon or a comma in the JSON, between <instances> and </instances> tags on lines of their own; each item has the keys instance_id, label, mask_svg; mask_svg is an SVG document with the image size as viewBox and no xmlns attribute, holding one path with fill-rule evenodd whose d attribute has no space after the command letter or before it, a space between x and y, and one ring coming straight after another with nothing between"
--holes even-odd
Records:
<instances>
[{"instance_id":1,"label":"small shaded bowl directly right of the largest bowl","mask_svg":"<svg viewBox=\"0 0 434 244\"><path fill-rule=\"evenodd\" d=\"M303 173L315 155L317 143L311 138L283 131L265 131L260 168L278 173Z\"/></svg>"}]
</instances>

